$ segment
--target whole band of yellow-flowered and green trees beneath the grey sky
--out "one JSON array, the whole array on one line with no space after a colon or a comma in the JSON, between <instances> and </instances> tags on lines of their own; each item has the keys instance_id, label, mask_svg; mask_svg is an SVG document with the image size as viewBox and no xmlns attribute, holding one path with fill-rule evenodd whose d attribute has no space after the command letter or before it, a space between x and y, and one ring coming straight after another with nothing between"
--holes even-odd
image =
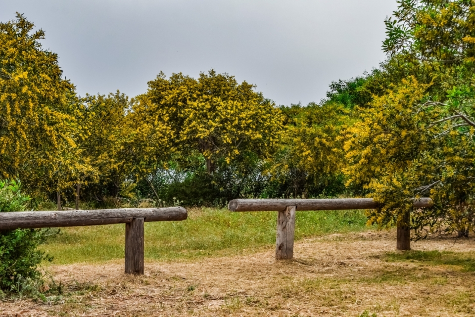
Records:
<instances>
[{"instance_id":1,"label":"whole band of yellow-flowered and green trees beneath the grey sky","mask_svg":"<svg viewBox=\"0 0 475 317\"><path fill-rule=\"evenodd\" d=\"M42 30L0 23L0 177L35 202L373 197L392 226L413 197L418 237L474 229L475 4L399 0L387 59L332 82L327 98L276 105L214 70L159 73L148 90L79 96Z\"/></svg>"}]
</instances>

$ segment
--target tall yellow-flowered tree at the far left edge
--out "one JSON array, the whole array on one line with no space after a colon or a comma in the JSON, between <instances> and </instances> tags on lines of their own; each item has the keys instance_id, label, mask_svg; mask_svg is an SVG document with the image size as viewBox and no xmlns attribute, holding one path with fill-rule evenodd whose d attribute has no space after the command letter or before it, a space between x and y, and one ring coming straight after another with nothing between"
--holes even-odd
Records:
<instances>
[{"instance_id":1,"label":"tall yellow-flowered tree at the far left edge","mask_svg":"<svg viewBox=\"0 0 475 317\"><path fill-rule=\"evenodd\" d=\"M19 176L30 192L60 191L75 176L78 149L74 86L62 79L42 30L23 15L0 23L0 174Z\"/></svg>"}]
</instances>

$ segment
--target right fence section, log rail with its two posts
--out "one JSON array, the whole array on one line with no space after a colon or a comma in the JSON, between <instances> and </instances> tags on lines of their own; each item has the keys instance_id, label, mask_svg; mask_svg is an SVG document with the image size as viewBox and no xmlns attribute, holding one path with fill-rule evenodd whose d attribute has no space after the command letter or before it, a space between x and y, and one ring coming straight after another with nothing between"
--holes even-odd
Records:
<instances>
[{"instance_id":1,"label":"right fence section, log rail with its two posts","mask_svg":"<svg viewBox=\"0 0 475 317\"><path fill-rule=\"evenodd\" d=\"M413 208L431 207L430 198L418 198ZM372 198L338 199L234 199L229 202L230 211L277 211L276 259L293 257L295 232L295 211L297 210L354 210L375 209L379 205ZM410 228L407 226L410 215L404 215L404 221L397 224L398 250L410 250Z\"/></svg>"}]
</instances>

